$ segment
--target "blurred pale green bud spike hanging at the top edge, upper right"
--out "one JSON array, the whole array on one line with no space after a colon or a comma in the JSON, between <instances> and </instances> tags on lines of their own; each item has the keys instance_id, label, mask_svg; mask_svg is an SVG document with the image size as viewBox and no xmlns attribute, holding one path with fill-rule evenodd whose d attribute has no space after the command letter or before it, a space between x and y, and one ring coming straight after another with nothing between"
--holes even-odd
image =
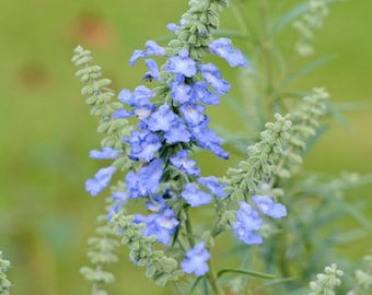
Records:
<instances>
[{"instance_id":1,"label":"blurred pale green bud spike hanging at the top edge, upper right","mask_svg":"<svg viewBox=\"0 0 372 295\"><path fill-rule=\"evenodd\" d=\"M314 52L311 46L314 30L323 27L323 20L328 15L328 7L325 0L309 0L307 10L300 20L293 23L293 27L300 33L300 39L295 50L300 56L310 56Z\"/></svg>"}]
</instances>

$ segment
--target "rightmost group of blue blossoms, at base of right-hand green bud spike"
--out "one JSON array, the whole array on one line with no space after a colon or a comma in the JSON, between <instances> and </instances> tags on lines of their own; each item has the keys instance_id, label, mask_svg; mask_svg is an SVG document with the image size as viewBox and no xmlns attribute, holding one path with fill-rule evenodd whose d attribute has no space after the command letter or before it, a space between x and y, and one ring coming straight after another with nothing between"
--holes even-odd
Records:
<instances>
[{"instance_id":1,"label":"rightmost group of blue blossoms, at base of right-hand green bud spike","mask_svg":"<svg viewBox=\"0 0 372 295\"><path fill-rule=\"evenodd\" d=\"M259 212L271 217L281 219L287 215L287 209L283 204L276 203L268 196L253 196L255 205ZM257 210L246 202L241 202L236 212L236 220L233 223L233 229L239 237L247 245L261 244L263 238L257 233L263 226L263 220Z\"/></svg>"}]
</instances>

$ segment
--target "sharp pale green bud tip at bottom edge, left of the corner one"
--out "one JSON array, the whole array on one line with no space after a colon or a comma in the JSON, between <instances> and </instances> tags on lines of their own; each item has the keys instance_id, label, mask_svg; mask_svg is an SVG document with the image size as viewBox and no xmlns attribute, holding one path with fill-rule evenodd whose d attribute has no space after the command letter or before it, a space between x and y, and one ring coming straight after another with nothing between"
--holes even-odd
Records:
<instances>
[{"instance_id":1,"label":"sharp pale green bud tip at bottom edge, left of the corner one","mask_svg":"<svg viewBox=\"0 0 372 295\"><path fill-rule=\"evenodd\" d=\"M341 284L339 276L342 276L344 272L337 269L336 264L326 267L324 273L316 275L316 281L310 282L311 293L307 295L335 295L334 288Z\"/></svg>"}]
</instances>

